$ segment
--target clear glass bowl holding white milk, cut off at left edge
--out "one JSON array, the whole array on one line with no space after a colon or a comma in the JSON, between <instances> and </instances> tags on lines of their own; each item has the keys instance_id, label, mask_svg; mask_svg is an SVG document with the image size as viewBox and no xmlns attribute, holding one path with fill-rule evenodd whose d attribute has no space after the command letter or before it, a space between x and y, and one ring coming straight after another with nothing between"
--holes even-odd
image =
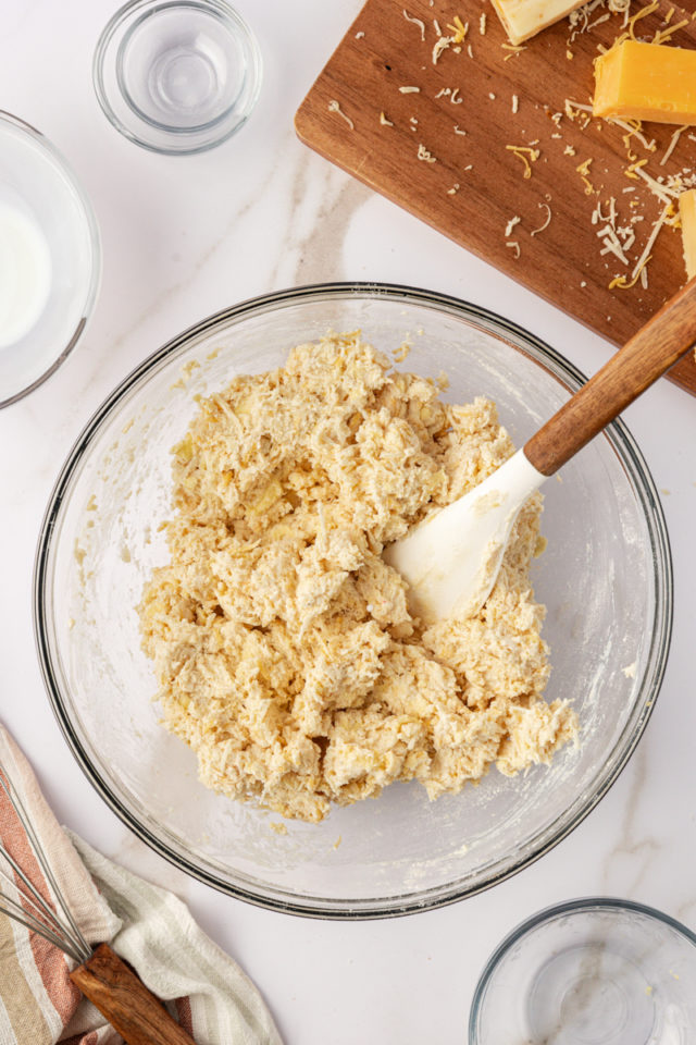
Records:
<instances>
[{"instance_id":1,"label":"clear glass bowl holding white milk, cut off at left edge","mask_svg":"<svg viewBox=\"0 0 696 1045\"><path fill-rule=\"evenodd\" d=\"M33 391L74 348L100 258L91 205L63 157L0 111L0 406Z\"/></svg>"}]
</instances>

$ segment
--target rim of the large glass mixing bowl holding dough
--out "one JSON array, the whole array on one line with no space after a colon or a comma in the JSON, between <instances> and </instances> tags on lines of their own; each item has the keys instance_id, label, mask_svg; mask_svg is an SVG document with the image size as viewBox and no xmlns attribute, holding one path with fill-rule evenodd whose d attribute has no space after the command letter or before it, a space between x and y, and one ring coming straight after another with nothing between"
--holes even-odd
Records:
<instances>
[{"instance_id":1,"label":"rim of the large glass mixing bowl holding dough","mask_svg":"<svg viewBox=\"0 0 696 1045\"><path fill-rule=\"evenodd\" d=\"M633 703L634 709L639 709L639 714L635 723L629 723L627 726L624 727L624 733L622 733L620 738L622 748L619 757L616 757L616 751L619 747L619 743L617 743L612 751L612 757L605 762L602 772L595 778L596 783L592 792L582 796L582 801L579 798L575 803L573 803L579 806L579 808L572 819L570 819L568 823L561 824L560 827L558 826L558 820L568 814L567 808L567 810L560 814L560 817L557 816L556 820L545 828L543 833L544 840L540 844L537 840L535 848L519 855L509 866L489 874L483 882L474 883L473 885L463 885L462 883L455 882L447 885L433 886L420 893L408 893L388 898L363 897L357 900L327 899L326 897L316 897L309 894L296 894L294 896L284 893L281 887L270 885L264 885L263 892L258 889L254 892L252 888L247 888L243 884L234 884L225 881L213 871L199 866L196 863L195 857L177 851L174 846L167 843L164 837L164 828L160 828L158 836L148 825L141 823L137 815L124 806L120 798L112 792L98 772L98 769L92 764L89 750L85 749L85 746L73 727L67 702L62 696L52 663L48 637L50 615L46 612L47 606L44 597L47 590L47 570L52 552L52 536L55 530L55 522L60 515L62 502L82 458L89 450L92 437L99 431L102 422L109 418L112 409L116 407L141 380L147 379L152 371L157 371L160 365L165 364L169 358L175 356L179 349L184 349L191 339L214 331L216 327L223 327L225 330L228 330L231 321L238 322L248 315L263 315L266 311L275 311L278 308L289 307L306 300L321 302L340 299L343 297L348 297L349 299L351 297L365 297L368 300L383 298L397 303L412 303L436 308L438 311L444 310L474 325L483 327L484 331L492 333L494 336L498 336L500 340L507 341L515 352L521 352L532 361L544 366L546 371L567 389L569 384L572 389L573 386L580 386L586 381L582 371L567 360L560 353L511 320L505 319L489 309L473 305L452 295L421 290L403 284L370 281L313 283L259 295L240 302L237 305L229 306L228 308L221 309L167 341L132 370L101 403L77 437L54 482L39 532L34 564L33 616L39 666L59 727L63 733L73 757L83 773L90 780L92 787L95 787L105 803L130 831L150 846L150 848L154 849L156 852L194 878L249 903L284 913L311 918L361 921L397 917L422 910L433 910L457 902L468 896L482 893L534 863L545 853L554 849L567 835L582 823L585 816L597 806L619 777L621 771L633 754L655 709L670 648L673 615L673 581L667 525L655 482L635 440L625 423L621 419L618 419L607 427L604 437L610 441L619 462L634 482L637 500L643 508L652 548L652 581L656 591L655 622L650 637L647 667L642 679L638 698L636 698ZM631 732L626 737L625 732L629 728ZM607 765L609 765L609 770L607 770ZM237 881L244 877L238 872L236 872L235 875Z\"/></svg>"}]
</instances>

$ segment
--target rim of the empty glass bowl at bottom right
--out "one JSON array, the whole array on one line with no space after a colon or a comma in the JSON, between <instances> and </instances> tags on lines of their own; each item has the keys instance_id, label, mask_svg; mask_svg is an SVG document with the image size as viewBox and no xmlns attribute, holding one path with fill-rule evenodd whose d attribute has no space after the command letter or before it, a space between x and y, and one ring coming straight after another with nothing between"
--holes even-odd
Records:
<instances>
[{"instance_id":1,"label":"rim of the empty glass bowl at bottom right","mask_svg":"<svg viewBox=\"0 0 696 1045\"><path fill-rule=\"evenodd\" d=\"M556 921L569 914L573 915L595 911L613 911L620 917L626 912L644 914L651 921L668 925L687 943L692 944L693 947L696 947L696 933L693 933L687 925L679 922L675 918L672 918L671 914L667 914L664 911L660 911L656 907L650 907L647 903L641 903L637 900L627 900L618 896L581 896L573 900L563 900L560 903L552 903L550 907L545 907L510 930L486 961L471 1001L469 1012L469 1045L481 1045L477 1028L478 1016L493 976L508 951L524 936L530 936L548 922Z\"/></svg>"}]
</instances>

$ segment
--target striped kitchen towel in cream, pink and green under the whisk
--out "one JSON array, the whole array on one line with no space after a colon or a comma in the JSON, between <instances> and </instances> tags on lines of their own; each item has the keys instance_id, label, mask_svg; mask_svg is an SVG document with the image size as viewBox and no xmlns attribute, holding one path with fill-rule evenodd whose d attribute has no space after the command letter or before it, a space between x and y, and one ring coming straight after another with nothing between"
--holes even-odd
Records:
<instances>
[{"instance_id":1,"label":"striped kitchen towel in cream, pink and green under the whisk","mask_svg":"<svg viewBox=\"0 0 696 1045\"><path fill-rule=\"evenodd\" d=\"M282 1045L256 986L173 893L145 882L60 827L28 762L0 725L0 776L18 794L57 886L86 941L129 962L197 1045ZM36 888L52 888L0 787L0 843ZM0 894L17 898L0 856ZM119 1045L121 1037L69 978L75 962L0 913L0 1045Z\"/></svg>"}]
</instances>

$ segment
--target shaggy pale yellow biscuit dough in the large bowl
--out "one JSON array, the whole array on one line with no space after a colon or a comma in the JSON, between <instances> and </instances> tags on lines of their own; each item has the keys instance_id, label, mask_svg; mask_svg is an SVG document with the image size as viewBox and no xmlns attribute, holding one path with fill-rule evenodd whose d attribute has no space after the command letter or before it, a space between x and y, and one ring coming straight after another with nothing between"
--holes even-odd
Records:
<instances>
[{"instance_id":1,"label":"shaggy pale yellow biscuit dough in the large bowl","mask_svg":"<svg viewBox=\"0 0 696 1045\"><path fill-rule=\"evenodd\" d=\"M434 799L494 764L513 775L574 737L572 709L542 698L538 494L474 617L424 629L381 558L512 451L493 403L443 403L359 332L201 402L173 451L171 561L139 614L164 724L203 784L318 822L393 780Z\"/></svg>"}]
</instances>

